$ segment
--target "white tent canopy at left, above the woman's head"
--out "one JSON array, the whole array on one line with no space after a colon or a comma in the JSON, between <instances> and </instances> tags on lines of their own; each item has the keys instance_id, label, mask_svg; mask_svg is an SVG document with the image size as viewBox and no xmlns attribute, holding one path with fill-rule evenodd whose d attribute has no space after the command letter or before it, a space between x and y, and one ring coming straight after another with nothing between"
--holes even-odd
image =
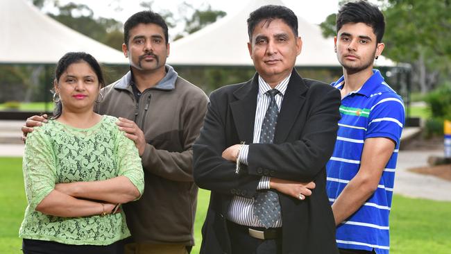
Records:
<instances>
[{"instance_id":1,"label":"white tent canopy at left, above the woman's head","mask_svg":"<svg viewBox=\"0 0 451 254\"><path fill-rule=\"evenodd\" d=\"M69 51L85 51L99 62L128 65L112 49L42 14L25 0L0 1L0 63L55 64Z\"/></svg>"}]
</instances>

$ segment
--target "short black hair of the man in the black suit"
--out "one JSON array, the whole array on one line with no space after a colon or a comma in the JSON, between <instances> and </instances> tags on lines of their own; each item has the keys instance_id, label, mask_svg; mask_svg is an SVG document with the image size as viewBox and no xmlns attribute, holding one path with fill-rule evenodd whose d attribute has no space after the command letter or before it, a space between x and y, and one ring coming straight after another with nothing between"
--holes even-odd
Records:
<instances>
[{"instance_id":1,"label":"short black hair of the man in the black suit","mask_svg":"<svg viewBox=\"0 0 451 254\"><path fill-rule=\"evenodd\" d=\"M294 33L295 37L298 37L298 17L294 14L293 10L285 6L262 6L253 12L250 12L248 18L248 35L249 41L252 41L252 33L254 32L255 26L259 24L262 20L268 20L269 22L273 19L282 19L282 21L287 24Z\"/></svg>"}]
</instances>

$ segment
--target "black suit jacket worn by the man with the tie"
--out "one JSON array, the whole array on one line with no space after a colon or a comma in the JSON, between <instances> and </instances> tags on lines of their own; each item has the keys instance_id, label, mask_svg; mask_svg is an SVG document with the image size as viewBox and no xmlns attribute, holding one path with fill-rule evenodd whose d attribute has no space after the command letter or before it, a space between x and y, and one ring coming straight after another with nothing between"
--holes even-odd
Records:
<instances>
[{"instance_id":1,"label":"black suit jacket worn by the man with the tie","mask_svg":"<svg viewBox=\"0 0 451 254\"><path fill-rule=\"evenodd\" d=\"M332 155L340 118L339 90L301 78L293 69L278 116L273 144L252 144L258 74L246 83L212 92L201 135L193 146L194 180L210 189L201 253L231 253L226 214L235 195L252 198L262 176L309 182L316 188L304 201L279 193L283 253L334 254L335 223L325 192L325 164ZM248 166L221 153L250 144Z\"/></svg>"}]
</instances>

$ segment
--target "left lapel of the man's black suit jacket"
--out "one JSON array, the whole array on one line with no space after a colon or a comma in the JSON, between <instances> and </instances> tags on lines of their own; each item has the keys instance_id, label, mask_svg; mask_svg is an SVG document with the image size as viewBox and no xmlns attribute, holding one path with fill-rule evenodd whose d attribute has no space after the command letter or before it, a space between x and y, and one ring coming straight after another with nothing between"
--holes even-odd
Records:
<instances>
[{"instance_id":1,"label":"left lapel of the man's black suit jacket","mask_svg":"<svg viewBox=\"0 0 451 254\"><path fill-rule=\"evenodd\" d=\"M252 80L233 93L238 100L230 103L239 140L246 144L253 143L257 93L258 76L255 74Z\"/></svg>"}]
</instances>

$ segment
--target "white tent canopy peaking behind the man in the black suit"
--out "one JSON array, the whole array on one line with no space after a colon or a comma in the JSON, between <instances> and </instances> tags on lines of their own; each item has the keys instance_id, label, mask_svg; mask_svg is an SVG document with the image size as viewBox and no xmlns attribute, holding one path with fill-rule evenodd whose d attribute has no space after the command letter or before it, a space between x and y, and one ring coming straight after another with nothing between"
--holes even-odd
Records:
<instances>
[{"instance_id":1,"label":"white tent canopy peaking behind the man in the black suit","mask_svg":"<svg viewBox=\"0 0 451 254\"><path fill-rule=\"evenodd\" d=\"M248 1L239 12L227 15L218 22L171 43L170 65L183 66L251 66L246 43L249 41L246 20L250 12L266 4L284 5L280 0ZM308 4L308 1L305 1ZM296 10L293 10L296 13ZM332 37L324 38L321 28L298 17L298 33L303 51L296 60L299 67L339 67ZM395 63L384 57L377 66L393 67Z\"/></svg>"}]
</instances>

